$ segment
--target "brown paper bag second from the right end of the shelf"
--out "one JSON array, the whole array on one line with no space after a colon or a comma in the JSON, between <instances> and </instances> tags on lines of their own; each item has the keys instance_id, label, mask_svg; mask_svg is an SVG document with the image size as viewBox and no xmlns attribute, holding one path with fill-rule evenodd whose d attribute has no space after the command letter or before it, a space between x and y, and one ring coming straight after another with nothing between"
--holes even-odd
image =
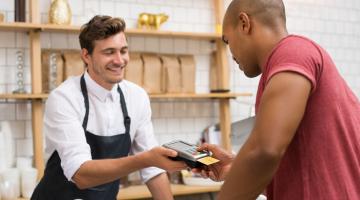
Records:
<instances>
[{"instance_id":1,"label":"brown paper bag second from the right end of the shelf","mask_svg":"<svg viewBox=\"0 0 360 200\"><path fill-rule=\"evenodd\" d=\"M164 76L164 91L166 93L181 93L181 68L179 60L173 55L162 55Z\"/></svg>"}]
</instances>

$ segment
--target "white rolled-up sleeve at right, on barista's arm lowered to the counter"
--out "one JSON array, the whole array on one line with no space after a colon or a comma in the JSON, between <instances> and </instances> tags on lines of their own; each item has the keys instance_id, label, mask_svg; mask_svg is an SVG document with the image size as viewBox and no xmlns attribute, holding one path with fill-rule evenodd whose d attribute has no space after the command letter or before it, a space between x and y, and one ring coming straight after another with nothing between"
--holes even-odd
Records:
<instances>
[{"instance_id":1,"label":"white rolled-up sleeve at right, on barista's arm lowered to the counter","mask_svg":"<svg viewBox=\"0 0 360 200\"><path fill-rule=\"evenodd\" d=\"M143 151L150 150L158 146L158 142L154 136L154 129L151 123L151 107L148 95L144 94L143 105L140 106L142 112L137 122L137 129L135 130L134 141L131 147L131 153L137 154ZM148 167L140 170L140 175L143 182L149 181L151 178L164 173L165 171L157 167Z\"/></svg>"}]
</instances>

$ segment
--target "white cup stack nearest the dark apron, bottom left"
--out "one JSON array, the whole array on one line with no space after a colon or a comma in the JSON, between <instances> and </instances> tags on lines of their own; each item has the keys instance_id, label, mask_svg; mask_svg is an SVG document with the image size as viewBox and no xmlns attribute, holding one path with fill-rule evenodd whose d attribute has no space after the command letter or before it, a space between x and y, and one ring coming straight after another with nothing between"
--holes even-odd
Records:
<instances>
[{"instance_id":1,"label":"white cup stack nearest the dark apron, bottom left","mask_svg":"<svg viewBox=\"0 0 360 200\"><path fill-rule=\"evenodd\" d=\"M36 187L37 169L27 168L21 170L21 194L30 198Z\"/></svg>"}]
</instances>

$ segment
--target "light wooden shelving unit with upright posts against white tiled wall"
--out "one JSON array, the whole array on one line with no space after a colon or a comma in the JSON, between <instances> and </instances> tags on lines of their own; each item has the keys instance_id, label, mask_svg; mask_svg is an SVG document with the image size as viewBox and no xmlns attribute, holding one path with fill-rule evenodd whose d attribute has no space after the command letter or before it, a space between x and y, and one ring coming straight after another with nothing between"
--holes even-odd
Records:
<instances>
[{"instance_id":1,"label":"light wooden shelving unit with upright posts against white tiled wall","mask_svg":"<svg viewBox=\"0 0 360 200\"><path fill-rule=\"evenodd\" d=\"M166 38L184 38L207 40L216 45L216 61L218 74L217 86L219 91L229 91L229 70L226 46L222 42L221 23L224 13L223 0L213 0L216 19L215 33L192 33L192 32L174 32L174 31L148 31L138 29L128 29L126 34L129 36L144 37L166 37ZM38 169L39 177L44 171L44 152L43 152L43 101L48 94L42 92L41 77L41 32L62 32L79 33L80 26L63 26L40 23L39 0L30 0L29 4L30 20L29 22L0 23L0 31L21 31L29 33L29 50L31 66L31 94L0 94L0 100L29 100L32 108L32 129L34 146L34 164ZM151 99L217 99L219 100L219 119L221 129L222 146L225 149L231 149L230 143L230 99L239 96L251 96L250 93L209 93L209 94L152 94ZM219 191L220 186L185 186L172 185L174 195L185 195L204 192ZM120 190L119 199L149 198L150 193L145 186L131 186Z\"/></svg>"}]
</instances>

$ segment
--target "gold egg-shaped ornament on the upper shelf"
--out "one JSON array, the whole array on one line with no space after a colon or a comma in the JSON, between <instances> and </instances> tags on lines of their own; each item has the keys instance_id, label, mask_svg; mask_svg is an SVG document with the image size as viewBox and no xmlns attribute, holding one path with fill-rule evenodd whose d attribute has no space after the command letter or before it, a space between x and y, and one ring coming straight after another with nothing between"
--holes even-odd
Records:
<instances>
[{"instance_id":1,"label":"gold egg-shaped ornament on the upper shelf","mask_svg":"<svg viewBox=\"0 0 360 200\"><path fill-rule=\"evenodd\" d=\"M71 24L71 9L67 0L52 0L49 10L49 23Z\"/></svg>"}]
</instances>

